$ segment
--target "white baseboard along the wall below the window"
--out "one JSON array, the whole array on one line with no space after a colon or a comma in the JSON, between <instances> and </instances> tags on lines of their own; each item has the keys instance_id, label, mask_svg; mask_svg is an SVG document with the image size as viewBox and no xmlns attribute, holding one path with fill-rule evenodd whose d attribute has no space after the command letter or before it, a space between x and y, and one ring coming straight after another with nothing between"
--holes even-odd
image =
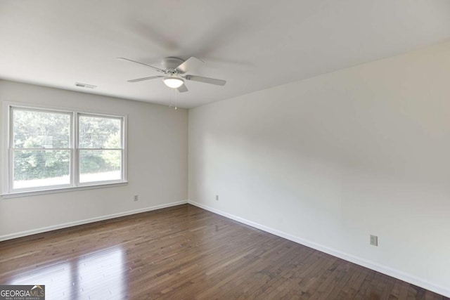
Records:
<instances>
[{"instance_id":1,"label":"white baseboard along the wall below the window","mask_svg":"<svg viewBox=\"0 0 450 300\"><path fill-rule=\"evenodd\" d=\"M51 230L58 230L58 229L68 228L68 227L82 225L82 224L86 224L86 223L114 219L114 218L118 218L120 216L129 216L131 214L139 214L141 212L153 211L156 209L163 209L166 207L174 207L176 205L186 204L186 203L188 203L188 201L183 200L183 201L179 201L179 202L155 205L153 207L146 207L143 209L134 209L131 211L124 211L124 212L120 212L117 214L108 214L106 216L98 216L98 217L91 218L91 219L84 219L84 220L80 220L80 221L63 223L63 224L58 224L58 225L54 225L54 226L48 226L48 227L37 228L37 229L32 229L32 230L25 230L25 231L21 231L20 233L11 233L9 235L0 235L0 242L3 240L12 240L12 239L15 239L16 237L25 237L27 235L35 235L37 233L45 233L45 232L51 231Z\"/></svg>"}]
</instances>

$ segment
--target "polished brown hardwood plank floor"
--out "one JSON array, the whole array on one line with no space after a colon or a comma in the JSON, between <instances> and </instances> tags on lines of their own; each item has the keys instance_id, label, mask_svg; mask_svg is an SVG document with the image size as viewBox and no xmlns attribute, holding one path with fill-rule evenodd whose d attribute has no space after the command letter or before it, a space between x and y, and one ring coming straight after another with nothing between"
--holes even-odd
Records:
<instances>
[{"instance_id":1,"label":"polished brown hardwood plank floor","mask_svg":"<svg viewBox=\"0 0 450 300\"><path fill-rule=\"evenodd\" d=\"M0 242L0 284L46 299L448 299L180 205Z\"/></svg>"}]
</instances>

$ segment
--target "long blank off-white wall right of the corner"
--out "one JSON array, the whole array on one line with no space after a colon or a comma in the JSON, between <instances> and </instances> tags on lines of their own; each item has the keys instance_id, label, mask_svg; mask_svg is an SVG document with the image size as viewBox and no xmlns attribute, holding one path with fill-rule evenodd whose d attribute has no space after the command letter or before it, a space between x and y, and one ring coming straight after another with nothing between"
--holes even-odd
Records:
<instances>
[{"instance_id":1,"label":"long blank off-white wall right of the corner","mask_svg":"<svg viewBox=\"0 0 450 300\"><path fill-rule=\"evenodd\" d=\"M449 53L189 110L189 199L450 296Z\"/></svg>"}]
</instances>

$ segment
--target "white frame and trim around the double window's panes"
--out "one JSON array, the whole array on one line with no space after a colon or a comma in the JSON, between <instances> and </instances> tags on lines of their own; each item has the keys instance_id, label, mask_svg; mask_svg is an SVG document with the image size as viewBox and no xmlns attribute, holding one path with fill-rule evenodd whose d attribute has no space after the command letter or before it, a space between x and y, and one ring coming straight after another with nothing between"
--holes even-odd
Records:
<instances>
[{"instance_id":1,"label":"white frame and trim around the double window's panes","mask_svg":"<svg viewBox=\"0 0 450 300\"><path fill-rule=\"evenodd\" d=\"M20 188L13 189L13 110L29 110L37 112L50 112L50 113L63 113L70 115L70 148L52 148L51 150L70 150L70 183L67 185L51 185L41 186L34 188ZM121 148L122 151L122 166L121 166L121 179L110 181L90 181L87 183L79 182L79 148L78 141L78 124L79 116L89 117L106 117L113 119L121 119ZM115 185L127 184L127 115L110 114L105 112L94 112L89 110L77 110L65 107L49 107L44 105L32 105L24 103L11 103L6 102L3 105L3 152L1 156L1 164L4 167L3 181L2 181L2 194L4 198L7 197L22 197L27 195L40 195L46 193L60 193L69 190L85 190L90 188L106 188ZM24 149L27 150L27 149ZM39 148L33 148L32 150L39 150ZM88 150L96 150L96 148L88 148ZM108 150L108 149L103 149ZM114 148L112 150L118 150Z\"/></svg>"}]
</instances>

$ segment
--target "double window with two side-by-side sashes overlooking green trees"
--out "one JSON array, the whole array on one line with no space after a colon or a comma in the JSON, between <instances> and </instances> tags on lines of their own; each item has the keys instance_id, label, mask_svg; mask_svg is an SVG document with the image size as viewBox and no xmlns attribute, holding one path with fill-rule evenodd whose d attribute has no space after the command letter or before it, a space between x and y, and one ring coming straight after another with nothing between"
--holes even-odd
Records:
<instances>
[{"instance_id":1,"label":"double window with two side-by-side sashes overlooking green trees","mask_svg":"<svg viewBox=\"0 0 450 300\"><path fill-rule=\"evenodd\" d=\"M124 116L8 105L7 193L125 181Z\"/></svg>"}]
</instances>

